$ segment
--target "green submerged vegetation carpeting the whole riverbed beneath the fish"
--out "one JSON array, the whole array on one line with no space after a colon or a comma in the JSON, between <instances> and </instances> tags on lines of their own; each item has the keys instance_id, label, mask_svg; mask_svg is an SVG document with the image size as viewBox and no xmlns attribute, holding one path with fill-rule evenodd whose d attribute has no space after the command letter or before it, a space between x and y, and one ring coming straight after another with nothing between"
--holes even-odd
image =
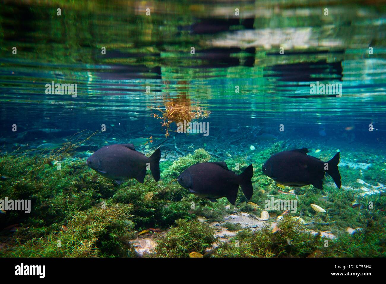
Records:
<instances>
[{"instance_id":1,"label":"green submerged vegetation carpeting the whole riverbed beneath the fish","mask_svg":"<svg viewBox=\"0 0 386 284\"><path fill-rule=\"evenodd\" d=\"M247 157L225 160L237 173L254 164L254 195L247 201L240 190L235 207L226 198L210 202L196 197L176 182L179 173L194 163L217 160L204 149L174 162L161 162L158 183L148 175L144 184L128 181L122 185L90 170L84 160L72 158L68 151L1 156L0 172L9 178L2 179L0 195L30 199L32 208L29 214L0 214L0 256L132 257L136 253L130 240L147 236L156 240L155 257L188 257L192 252L206 257L386 256L386 196L337 189L330 177L323 190L295 188L296 195L281 190L261 172L261 165L285 147L288 145L281 141ZM368 171L378 173L378 167L381 165L374 163ZM340 173L342 184L354 189L361 187L359 177L369 184L384 178L367 177L367 172L361 176L349 167L341 167ZM297 201L296 213L285 214L277 223L279 230L273 231L269 224L283 214L280 210L269 210L267 226L255 231L230 222L230 214L260 217L265 201L273 197ZM311 204L327 212L315 212ZM221 241L212 222L236 235ZM354 233L347 233L348 228ZM321 232L335 237L326 238Z\"/></svg>"}]
</instances>

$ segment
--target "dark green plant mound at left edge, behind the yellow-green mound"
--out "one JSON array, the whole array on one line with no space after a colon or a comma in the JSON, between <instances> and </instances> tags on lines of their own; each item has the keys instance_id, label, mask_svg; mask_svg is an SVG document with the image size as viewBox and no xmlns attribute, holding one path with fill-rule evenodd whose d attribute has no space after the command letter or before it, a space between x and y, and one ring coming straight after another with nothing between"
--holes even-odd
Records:
<instances>
[{"instance_id":1,"label":"dark green plant mound at left edge, behind the yellow-green mound","mask_svg":"<svg viewBox=\"0 0 386 284\"><path fill-rule=\"evenodd\" d=\"M43 163L39 156L0 158L0 171L11 172L1 183L0 193L8 199L30 199L31 213L14 211L4 214L5 223L20 223L26 218L41 218L45 224L59 221L68 213L85 210L102 198L113 195L114 185L93 173L79 159L61 161L57 165ZM37 168L34 165L40 165Z\"/></svg>"}]
</instances>

